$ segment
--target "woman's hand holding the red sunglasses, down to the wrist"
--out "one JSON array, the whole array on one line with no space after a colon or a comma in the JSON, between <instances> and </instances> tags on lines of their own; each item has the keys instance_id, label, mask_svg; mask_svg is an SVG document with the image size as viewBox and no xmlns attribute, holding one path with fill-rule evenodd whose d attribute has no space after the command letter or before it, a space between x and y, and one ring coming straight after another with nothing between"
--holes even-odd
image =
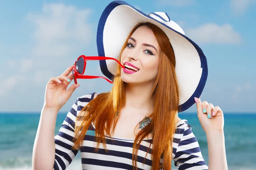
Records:
<instances>
[{"instance_id":1,"label":"woman's hand holding the red sunglasses, down to the wrist","mask_svg":"<svg viewBox=\"0 0 256 170\"><path fill-rule=\"evenodd\" d=\"M59 111L71 97L76 87L79 86L78 84L73 84L67 89L67 86L73 80L73 75L71 73L72 67L73 65L67 68L67 70L60 76L52 77L47 83L44 96L45 108L52 108ZM70 82L68 79L70 79Z\"/></svg>"}]
</instances>

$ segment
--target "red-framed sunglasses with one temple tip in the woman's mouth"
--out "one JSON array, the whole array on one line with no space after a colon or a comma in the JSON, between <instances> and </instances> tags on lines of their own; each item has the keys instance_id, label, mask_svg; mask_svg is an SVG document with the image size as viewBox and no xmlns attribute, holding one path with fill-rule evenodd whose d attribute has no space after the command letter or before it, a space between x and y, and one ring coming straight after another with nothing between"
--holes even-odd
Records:
<instances>
[{"instance_id":1,"label":"red-framed sunglasses with one temple tip in the woman's mouth","mask_svg":"<svg viewBox=\"0 0 256 170\"><path fill-rule=\"evenodd\" d=\"M125 66L123 66L117 59L114 59L112 57L99 57L99 56L88 56L85 57L84 55L79 56L76 59L75 65L72 67L72 74L73 74L73 79L74 82L77 84L76 79L96 79L96 78L102 78L107 80L110 83L113 83L111 80L102 77L102 76L87 76L87 75L82 75L84 74L85 68L86 68L86 61L87 60L103 60L103 59L113 59L116 62L118 62L118 64L122 67L125 68Z\"/></svg>"}]
</instances>

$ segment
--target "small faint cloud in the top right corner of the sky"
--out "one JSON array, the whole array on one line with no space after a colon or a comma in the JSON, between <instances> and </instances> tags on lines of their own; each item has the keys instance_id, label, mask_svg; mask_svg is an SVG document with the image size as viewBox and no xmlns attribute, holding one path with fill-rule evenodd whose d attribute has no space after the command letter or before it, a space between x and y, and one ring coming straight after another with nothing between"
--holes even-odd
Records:
<instances>
[{"instance_id":1,"label":"small faint cloud in the top right corner of the sky","mask_svg":"<svg viewBox=\"0 0 256 170\"><path fill-rule=\"evenodd\" d=\"M230 8L234 14L242 14L255 2L256 0L230 0Z\"/></svg>"}]
</instances>

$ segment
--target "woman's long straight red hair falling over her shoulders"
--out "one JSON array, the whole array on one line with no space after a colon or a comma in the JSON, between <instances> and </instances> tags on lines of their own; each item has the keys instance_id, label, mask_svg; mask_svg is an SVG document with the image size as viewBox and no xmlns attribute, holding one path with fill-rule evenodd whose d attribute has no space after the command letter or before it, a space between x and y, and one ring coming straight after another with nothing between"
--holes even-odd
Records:
<instances>
[{"instance_id":1,"label":"woman's long straight red hair falling over her shoulders","mask_svg":"<svg viewBox=\"0 0 256 170\"><path fill-rule=\"evenodd\" d=\"M137 161L134 160L137 160L140 143L149 133L153 133L151 152L152 170L159 168L170 170L172 167L172 141L176 130L177 113L179 109L178 84L175 74L175 55L168 37L159 27L152 23L139 23L132 29L125 40L119 55L119 61L122 51L127 45L128 38L131 37L134 31L140 26L148 26L148 28L151 28L160 45L160 56L158 75L151 91L151 96L154 99L154 111L150 114L152 121L136 135L133 145L132 162L134 168L137 170ZM118 67L113 79L114 83L111 91L99 94L80 111L79 115L77 115L75 128L76 139L74 138L73 140L73 149L82 145L87 129L93 122L95 125L95 142L97 142L95 151L97 152L99 144L103 143L105 151L108 152L105 135L111 136L119 118L119 116L116 116L116 113L120 111L125 104L125 83L120 78L120 72L121 69ZM113 125L112 132L110 132L111 125ZM105 131L107 134L105 134ZM139 143L137 144L138 141ZM160 166L160 158L162 155L163 164Z\"/></svg>"}]
</instances>

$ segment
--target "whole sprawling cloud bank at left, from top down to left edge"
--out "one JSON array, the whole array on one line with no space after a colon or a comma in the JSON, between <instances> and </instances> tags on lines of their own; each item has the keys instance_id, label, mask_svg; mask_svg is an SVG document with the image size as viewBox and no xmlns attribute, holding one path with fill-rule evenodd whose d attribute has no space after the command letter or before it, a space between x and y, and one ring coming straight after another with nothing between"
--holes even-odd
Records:
<instances>
[{"instance_id":1,"label":"whole sprawling cloud bank at left, from top down to left edge","mask_svg":"<svg viewBox=\"0 0 256 170\"><path fill-rule=\"evenodd\" d=\"M52 72L56 73L59 68L65 70L63 67L71 65L76 57L71 59L70 56L87 48L92 38L96 37L87 21L90 14L90 9L79 9L63 3L45 3L38 14L28 14L27 18L36 26L31 43L35 46L28 48L31 51L27 50L26 58L23 57L23 48L15 48L15 52L23 55L6 62L6 68L12 73L1 77L0 96L14 88L23 91L26 89L22 88L46 85L51 77L58 76L58 73L53 75ZM3 45L0 44L1 48ZM56 62L61 65L55 65Z\"/></svg>"}]
</instances>

